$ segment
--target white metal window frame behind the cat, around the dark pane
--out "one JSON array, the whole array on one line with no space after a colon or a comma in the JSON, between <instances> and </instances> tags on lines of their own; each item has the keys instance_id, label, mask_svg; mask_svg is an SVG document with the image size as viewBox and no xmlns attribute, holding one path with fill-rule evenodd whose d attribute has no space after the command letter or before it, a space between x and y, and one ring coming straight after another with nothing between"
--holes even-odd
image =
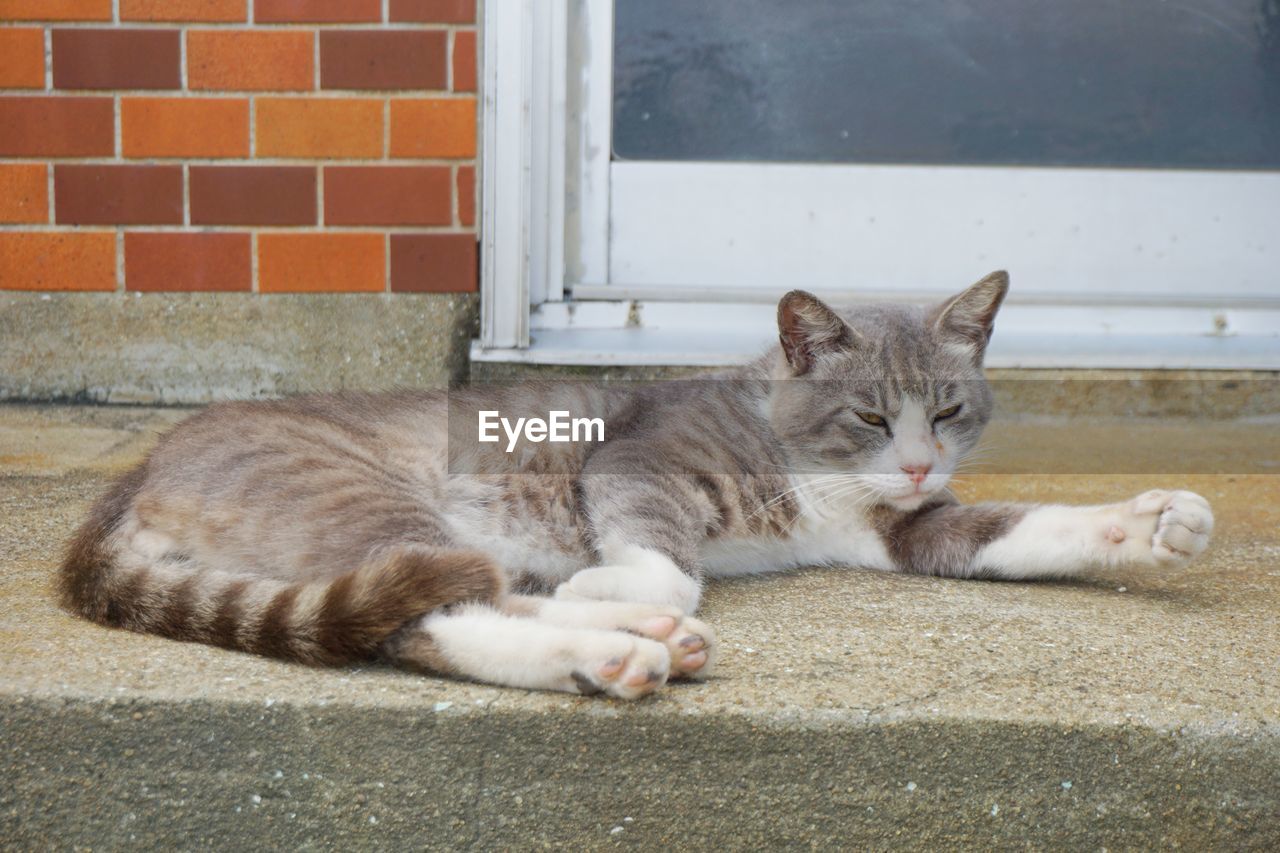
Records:
<instances>
[{"instance_id":1,"label":"white metal window frame behind the cat, around the dark pane","mask_svg":"<svg viewBox=\"0 0 1280 853\"><path fill-rule=\"evenodd\" d=\"M772 300L791 287L836 300L924 301L961 287L956 275L1009 266L1015 287L992 366L1280 368L1280 245L1267 233L1280 222L1280 174L612 163L612 51L608 0L485 4L483 301L474 360L735 364L772 338ZM1061 251L1061 240L1046 248L1015 233L1030 215L1015 202L1020 195L1051 197L1056 187L1082 182L1096 184L1096 197L1115 200L1108 220L1091 223L1102 247L1096 254L1116 266L1115 283L1106 269L1091 282L1055 277L1046 259ZM837 192L827 192L824 205L815 190L778 191L806 183ZM950 245L938 252L945 264L933 269L915 259L908 278L877 241L886 242L886 223L897 223L899 243L908 219L919 225L920 206L902 200L922 187L951 200L934 205L942 218L983 193L1004 201L951 228ZM1137 243L1147 238L1126 207L1134 197L1148 206L1167 200L1161 229L1184 243L1166 246L1164 257L1114 246L1120 234L1129 238L1126 231ZM790 231L776 237L808 241L809 248L781 260L755 251L759 218L740 215L751 199L814 209L813 224L790 211ZM1053 211L1042 206L1034 215L1043 222ZM1080 211L1070 215L1079 222ZM748 250L735 248L739 240ZM864 241L869 260L860 273L883 289L845 284L840 264L823 251L844 248L841 240ZM998 257L984 248L993 243ZM1228 292L1213 280L1201 287L1204 259L1226 251L1271 252L1276 263L1253 263ZM1119 283L1135 275L1144 284L1124 291ZM744 280L755 287L741 287Z\"/></svg>"}]
</instances>

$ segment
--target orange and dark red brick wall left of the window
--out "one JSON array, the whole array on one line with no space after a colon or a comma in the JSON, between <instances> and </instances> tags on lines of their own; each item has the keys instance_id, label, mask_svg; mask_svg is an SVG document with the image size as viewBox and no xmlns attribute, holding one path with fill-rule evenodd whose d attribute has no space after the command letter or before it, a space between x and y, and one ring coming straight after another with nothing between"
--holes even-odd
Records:
<instances>
[{"instance_id":1,"label":"orange and dark red brick wall left of the window","mask_svg":"<svg viewBox=\"0 0 1280 853\"><path fill-rule=\"evenodd\" d=\"M0 0L0 289L472 292L475 0Z\"/></svg>"}]
</instances>

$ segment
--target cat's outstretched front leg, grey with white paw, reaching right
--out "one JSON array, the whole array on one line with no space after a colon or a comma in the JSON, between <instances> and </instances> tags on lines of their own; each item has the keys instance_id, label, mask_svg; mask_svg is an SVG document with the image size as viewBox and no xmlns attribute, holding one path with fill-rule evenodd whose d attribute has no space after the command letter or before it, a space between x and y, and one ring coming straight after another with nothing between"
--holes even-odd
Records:
<instances>
[{"instance_id":1,"label":"cat's outstretched front leg, grey with white paw, reaching right","mask_svg":"<svg viewBox=\"0 0 1280 853\"><path fill-rule=\"evenodd\" d=\"M878 526L901 571L1020 580L1185 566L1208 547L1213 512L1193 492L1153 491L1105 506L936 506Z\"/></svg>"}]
</instances>

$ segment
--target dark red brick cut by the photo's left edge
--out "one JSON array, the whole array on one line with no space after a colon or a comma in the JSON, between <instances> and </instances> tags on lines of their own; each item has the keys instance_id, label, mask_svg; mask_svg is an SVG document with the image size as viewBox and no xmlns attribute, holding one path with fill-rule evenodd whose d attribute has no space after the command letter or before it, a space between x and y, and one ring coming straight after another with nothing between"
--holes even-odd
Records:
<instances>
[{"instance_id":1,"label":"dark red brick cut by the photo's left edge","mask_svg":"<svg viewBox=\"0 0 1280 853\"><path fill-rule=\"evenodd\" d=\"M115 154L110 97L0 97L0 156Z\"/></svg>"}]
</instances>

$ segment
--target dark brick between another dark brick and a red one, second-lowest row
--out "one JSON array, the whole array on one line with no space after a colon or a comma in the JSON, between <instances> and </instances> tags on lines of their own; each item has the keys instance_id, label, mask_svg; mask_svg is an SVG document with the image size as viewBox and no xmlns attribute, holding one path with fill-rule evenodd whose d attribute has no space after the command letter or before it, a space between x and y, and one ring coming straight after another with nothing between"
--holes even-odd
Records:
<instances>
[{"instance_id":1,"label":"dark brick between another dark brick and a red one, second-lowest row","mask_svg":"<svg viewBox=\"0 0 1280 853\"><path fill-rule=\"evenodd\" d=\"M314 225L311 167L191 167L193 225Z\"/></svg>"}]
</instances>

